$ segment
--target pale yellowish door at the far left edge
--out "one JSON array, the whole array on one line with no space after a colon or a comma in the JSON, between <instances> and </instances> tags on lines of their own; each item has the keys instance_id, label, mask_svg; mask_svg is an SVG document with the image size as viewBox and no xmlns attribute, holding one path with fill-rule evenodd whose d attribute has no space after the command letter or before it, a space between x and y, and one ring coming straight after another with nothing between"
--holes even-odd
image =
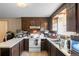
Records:
<instances>
[{"instance_id":1,"label":"pale yellowish door at the far left edge","mask_svg":"<svg viewBox=\"0 0 79 59\"><path fill-rule=\"evenodd\" d=\"M0 21L0 42L3 42L6 32L7 32L7 21Z\"/></svg>"}]
</instances>

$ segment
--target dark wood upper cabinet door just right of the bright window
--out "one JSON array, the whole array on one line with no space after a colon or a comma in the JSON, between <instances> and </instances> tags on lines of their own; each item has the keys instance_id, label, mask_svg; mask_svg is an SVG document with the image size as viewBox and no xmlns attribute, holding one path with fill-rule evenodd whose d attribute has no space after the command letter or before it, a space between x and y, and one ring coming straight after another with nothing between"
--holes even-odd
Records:
<instances>
[{"instance_id":1,"label":"dark wood upper cabinet door just right of the bright window","mask_svg":"<svg viewBox=\"0 0 79 59\"><path fill-rule=\"evenodd\" d=\"M76 32L75 6L67 10L67 31Z\"/></svg>"}]
</instances>

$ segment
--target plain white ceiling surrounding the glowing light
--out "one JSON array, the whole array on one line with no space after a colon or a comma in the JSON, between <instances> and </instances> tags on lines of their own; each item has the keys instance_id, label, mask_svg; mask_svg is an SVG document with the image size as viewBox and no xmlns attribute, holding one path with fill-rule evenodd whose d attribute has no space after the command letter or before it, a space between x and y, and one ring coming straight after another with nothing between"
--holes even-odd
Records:
<instances>
[{"instance_id":1,"label":"plain white ceiling surrounding the glowing light","mask_svg":"<svg viewBox=\"0 0 79 59\"><path fill-rule=\"evenodd\" d=\"M29 3L19 8L16 3L0 3L0 18L49 17L62 3Z\"/></svg>"}]
</instances>

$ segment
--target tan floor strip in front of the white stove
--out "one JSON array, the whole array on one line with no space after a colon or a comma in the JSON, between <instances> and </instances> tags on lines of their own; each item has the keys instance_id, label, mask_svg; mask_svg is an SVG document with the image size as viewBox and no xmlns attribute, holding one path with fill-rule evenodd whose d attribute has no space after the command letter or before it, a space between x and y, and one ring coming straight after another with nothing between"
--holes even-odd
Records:
<instances>
[{"instance_id":1,"label":"tan floor strip in front of the white stove","mask_svg":"<svg viewBox=\"0 0 79 59\"><path fill-rule=\"evenodd\" d=\"M23 51L21 56L48 56L48 53L46 51L41 51L41 52L27 52L27 51Z\"/></svg>"}]
</instances>

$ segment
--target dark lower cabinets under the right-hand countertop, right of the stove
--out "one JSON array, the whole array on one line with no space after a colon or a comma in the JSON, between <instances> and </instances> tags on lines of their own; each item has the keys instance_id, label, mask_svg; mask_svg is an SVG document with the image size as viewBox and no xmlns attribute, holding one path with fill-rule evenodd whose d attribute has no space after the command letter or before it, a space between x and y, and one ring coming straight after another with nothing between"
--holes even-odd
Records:
<instances>
[{"instance_id":1,"label":"dark lower cabinets under the right-hand countertop, right of the stove","mask_svg":"<svg viewBox=\"0 0 79 59\"><path fill-rule=\"evenodd\" d=\"M52 43L47 40L47 52L48 56L65 56L61 51L59 51Z\"/></svg>"}]
</instances>

